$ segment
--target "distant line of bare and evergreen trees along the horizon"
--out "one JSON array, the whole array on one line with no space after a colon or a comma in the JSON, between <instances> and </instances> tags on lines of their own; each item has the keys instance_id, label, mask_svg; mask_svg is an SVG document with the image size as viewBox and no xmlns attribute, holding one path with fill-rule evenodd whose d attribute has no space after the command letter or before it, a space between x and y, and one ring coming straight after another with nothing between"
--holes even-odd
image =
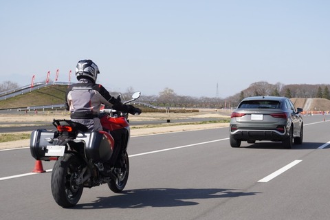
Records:
<instances>
[{"instance_id":1,"label":"distant line of bare and evergreen trees along the horizon","mask_svg":"<svg viewBox=\"0 0 330 220\"><path fill-rule=\"evenodd\" d=\"M5 81L0 84L0 92L8 91L19 87L17 83ZM126 100L131 97L134 89L129 87L126 92L122 93ZM112 94L112 93L111 93ZM113 94L118 92L113 91ZM179 96L173 89L165 88L160 91L158 96L142 96L140 102L153 105L155 107L164 108L212 108L212 109L231 109L235 108L239 102L250 96L285 96L287 98L326 98L330 100L329 85L309 85L309 84L292 84L284 85L282 83L270 84L265 81L252 83L247 89L229 96L227 98L219 97L192 97Z\"/></svg>"}]
</instances>

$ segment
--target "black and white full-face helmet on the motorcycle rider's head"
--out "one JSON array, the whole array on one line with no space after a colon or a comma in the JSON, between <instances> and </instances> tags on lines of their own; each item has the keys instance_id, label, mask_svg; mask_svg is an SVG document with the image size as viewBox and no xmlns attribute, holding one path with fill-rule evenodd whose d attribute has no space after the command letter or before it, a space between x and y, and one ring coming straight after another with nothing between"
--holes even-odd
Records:
<instances>
[{"instance_id":1,"label":"black and white full-face helmet on the motorcycle rider's head","mask_svg":"<svg viewBox=\"0 0 330 220\"><path fill-rule=\"evenodd\" d=\"M89 78L96 83L96 78L98 78L100 70L98 66L91 60L81 60L77 63L76 67L76 77L78 80L80 78Z\"/></svg>"}]
</instances>

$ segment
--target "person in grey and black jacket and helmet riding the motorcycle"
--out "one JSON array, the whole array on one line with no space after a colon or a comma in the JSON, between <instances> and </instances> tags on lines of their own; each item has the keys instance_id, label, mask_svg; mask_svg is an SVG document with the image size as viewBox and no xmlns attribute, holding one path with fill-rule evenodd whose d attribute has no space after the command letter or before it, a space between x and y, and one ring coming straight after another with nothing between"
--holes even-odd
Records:
<instances>
[{"instance_id":1,"label":"person in grey and black jacket and helmet riding the motorcycle","mask_svg":"<svg viewBox=\"0 0 330 220\"><path fill-rule=\"evenodd\" d=\"M78 83L69 85L65 94L65 107L70 111L71 120L87 126L89 131L102 131L100 122L101 104L117 111L131 114L140 114L142 111L131 104L122 104L120 97L115 98L102 85L96 83L100 71L91 60L78 61L76 66L76 78ZM111 164L120 155L121 138L120 131L111 133L115 144L115 152L111 158Z\"/></svg>"}]
</instances>

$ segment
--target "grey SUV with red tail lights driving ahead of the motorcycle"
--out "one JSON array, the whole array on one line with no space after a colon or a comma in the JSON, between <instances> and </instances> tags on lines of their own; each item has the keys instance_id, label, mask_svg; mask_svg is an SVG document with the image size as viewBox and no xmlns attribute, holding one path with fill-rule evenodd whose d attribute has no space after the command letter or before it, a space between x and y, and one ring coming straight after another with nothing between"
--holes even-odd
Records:
<instances>
[{"instance_id":1,"label":"grey SUV with red tail lights driving ahead of the motorcycle","mask_svg":"<svg viewBox=\"0 0 330 220\"><path fill-rule=\"evenodd\" d=\"M244 98L230 118L230 146L242 141L282 142L284 148L303 143L303 109L295 108L289 98L253 96Z\"/></svg>"}]
</instances>

